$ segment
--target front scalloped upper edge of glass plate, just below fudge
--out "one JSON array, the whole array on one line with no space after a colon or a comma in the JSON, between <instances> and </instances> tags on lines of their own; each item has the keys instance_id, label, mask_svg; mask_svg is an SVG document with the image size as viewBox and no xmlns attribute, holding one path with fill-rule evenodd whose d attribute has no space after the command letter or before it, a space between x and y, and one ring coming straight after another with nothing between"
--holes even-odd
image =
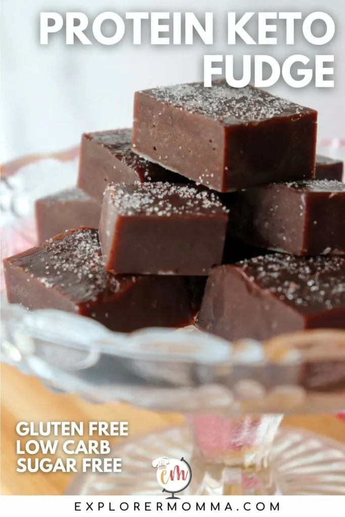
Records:
<instances>
[{"instance_id":1,"label":"front scalloped upper edge of glass plate, just below fudge","mask_svg":"<svg viewBox=\"0 0 345 517\"><path fill-rule=\"evenodd\" d=\"M1 307L3 330L7 332L5 340L9 342L9 336L18 339L21 335L20 349L24 353L33 351L30 343L33 339L81 352L92 350L127 359L197 363L211 368L219 365L230 368L235 364L262 367L304 364L313 360L345 360L345 332L332 329L305 332L304 335L308 336L305 342L296 340L300 335L296 332L266 343L253 339L231 343L194 326L113 332L92 318L78 314L53 309L29 312L20 305L9 304L4 293L1 294ZM320 346L322 337L334 338L327 349Z\"/></svg>"}]
</instances>

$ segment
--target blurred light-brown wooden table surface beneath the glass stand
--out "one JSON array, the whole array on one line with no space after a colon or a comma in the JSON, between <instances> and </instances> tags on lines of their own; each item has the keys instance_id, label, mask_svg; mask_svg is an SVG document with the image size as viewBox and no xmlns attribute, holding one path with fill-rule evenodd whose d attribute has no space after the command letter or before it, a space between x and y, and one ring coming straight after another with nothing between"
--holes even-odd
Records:
<instances>
[{"instance_id":1,"label":"blurred light-brown wooden table surface beneath the glass stand","mask_svg":"<svg viewBox=\"0 0 345 517\"><path fill-rule=\"evenodd\" d=\"M16 472L16 424L19 421L109 421L129 422L130 435L178 425L179 415L152 413L125 404L88 404L77 396L57 395L16 369L1 367L1 493L12 495L63 494L73 474L19 474ZM289 417L295 425L345 443L345 422L335 416Z\"/></svg>"}]
</instances>

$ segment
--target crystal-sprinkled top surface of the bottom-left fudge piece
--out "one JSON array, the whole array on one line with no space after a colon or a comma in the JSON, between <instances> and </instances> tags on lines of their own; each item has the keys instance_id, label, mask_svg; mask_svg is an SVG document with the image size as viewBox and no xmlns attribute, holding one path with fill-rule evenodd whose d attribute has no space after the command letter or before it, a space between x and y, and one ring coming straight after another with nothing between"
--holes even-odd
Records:
<instances>
[{"instance_id":1,"label":"crystal-sprinkled top surface of the bottom-left fudge piece","mask_svg":"<svg viewBox=\"0 0 345 517\"><path fill-rule=\"evenodd\" d=\"M136 277L117 277L104 269L97 230L80 228L7 259L47 288L56 288L75 303L120 293Z\"/></svg>"}]
</instances>

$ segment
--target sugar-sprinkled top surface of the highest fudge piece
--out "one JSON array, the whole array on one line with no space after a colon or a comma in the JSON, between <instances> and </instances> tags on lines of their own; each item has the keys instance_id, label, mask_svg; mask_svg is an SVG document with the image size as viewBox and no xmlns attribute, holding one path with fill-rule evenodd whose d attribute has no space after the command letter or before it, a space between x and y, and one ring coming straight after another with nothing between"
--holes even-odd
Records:
<instances>
[{"instance_id":1,"label":"sugar-sprinkled top surface of the highest fudge piece","mask_svg":"<svg viewBox=\"0 0 345 517\"><path fill-rule=\"evenodd\" d=\"M211 88L205 88L203 83L190 83L160 86L140 93L175 108L212 118L224 126L316 113L253 86L233 88L225 80L214 81Z\"/></svg>"}]
</instances>

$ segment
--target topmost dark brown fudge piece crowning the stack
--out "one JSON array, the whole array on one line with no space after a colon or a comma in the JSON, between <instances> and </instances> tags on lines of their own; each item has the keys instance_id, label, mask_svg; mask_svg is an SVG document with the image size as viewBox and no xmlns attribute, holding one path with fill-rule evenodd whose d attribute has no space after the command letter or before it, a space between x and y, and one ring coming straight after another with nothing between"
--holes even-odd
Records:
<instances>
[{"instance_id":1,"label":"topmost dark brown fudge piece crowning the stack","mask_svg":"<svg viewBox=\"0 0 345 517\"><path fill-rule=\"evenodd\" d=\"M134 98L133 150L220 192L313 177L316 131L316 111L224 80Z\"/></svg>"}]
</instances>

